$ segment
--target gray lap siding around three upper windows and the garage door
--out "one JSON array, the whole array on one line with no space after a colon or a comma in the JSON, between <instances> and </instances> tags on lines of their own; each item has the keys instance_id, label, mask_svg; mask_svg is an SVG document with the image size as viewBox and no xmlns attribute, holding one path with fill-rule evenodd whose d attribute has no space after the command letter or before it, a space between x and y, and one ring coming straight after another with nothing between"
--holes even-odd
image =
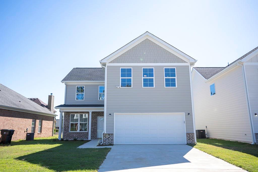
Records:
<instances>
[{"instance_id":1,"label":"gray lap siding around three upper windows and the garage door","mask_svg":"<svg viewBox=\"0 0 258 172\"><path fill-rule=\"evenodd\" d=\"M120 67L132 67L133 88L116 87ZM142 67L154 67L155 88L142 88ZM176 67L177 88L164 87L164 67ZM186 132L193 132L189 66L107 66L106 94L107 133L114 132L114 113L148 112L185 112Z\"/></svg>"}]
</instances>

